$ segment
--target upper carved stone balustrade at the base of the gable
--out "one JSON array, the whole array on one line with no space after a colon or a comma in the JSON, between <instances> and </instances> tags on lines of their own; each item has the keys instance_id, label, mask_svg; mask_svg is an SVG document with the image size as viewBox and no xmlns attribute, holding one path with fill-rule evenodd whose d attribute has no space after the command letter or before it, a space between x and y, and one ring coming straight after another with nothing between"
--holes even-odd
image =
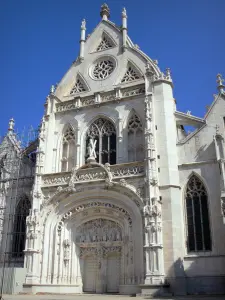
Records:
<instances>
[{"instance_id":1,"label":"upper carved stone balustrade at the base of the gable","mask_svg":"<svg viewBox=\"0 0 225 300\"><path fill-rule=\"evenodd\" d=\"M119 101L128 97L138 96L145 94L144 85L131 86L123 89L116 89L106 93L96 93L92 96L87 97L76 97L72 98L63 103L56 104L56 112L63 112L72 109L80 109L90 105L100 105L101 103L109 101Z\"/></svg>"}]
</instances>

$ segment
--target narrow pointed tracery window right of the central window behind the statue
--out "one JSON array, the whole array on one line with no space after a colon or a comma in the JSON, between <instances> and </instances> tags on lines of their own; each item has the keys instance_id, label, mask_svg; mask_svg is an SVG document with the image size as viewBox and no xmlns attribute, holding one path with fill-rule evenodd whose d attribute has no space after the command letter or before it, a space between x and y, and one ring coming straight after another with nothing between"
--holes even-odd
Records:
<instances>
[{"instance_id":1,"label":"narrow pointed tracery window right of the central window behind the statue","mask_svg":"<svg viewBox=\"0 0 225 300\"><path fill-rule=\"evenodd\" d=\"M128 122L128 161L144 159L144 136L140 118L133 113Z\"/></svg>"}]
</instances>

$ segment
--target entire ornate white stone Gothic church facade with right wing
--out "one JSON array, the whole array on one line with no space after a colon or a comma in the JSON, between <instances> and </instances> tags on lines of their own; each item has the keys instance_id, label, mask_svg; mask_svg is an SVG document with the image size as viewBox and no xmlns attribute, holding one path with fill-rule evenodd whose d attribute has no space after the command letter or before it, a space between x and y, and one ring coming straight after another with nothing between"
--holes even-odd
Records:
<instances>
[{"instance_id":1,"label":"entire ornate white stone Gothic church facade with right wing","mask_svg":"<svg viewBox=\"0 0 225 300\"><path fill-rule=\"evenodd\" d=\"M101 17L89 36L82 21L79 57L46 99L23 289L224 293L222 77L204 118L177 111L170 70L133 44L126 10L121 27L105 4Z\"/></svg>"}]
</instances>

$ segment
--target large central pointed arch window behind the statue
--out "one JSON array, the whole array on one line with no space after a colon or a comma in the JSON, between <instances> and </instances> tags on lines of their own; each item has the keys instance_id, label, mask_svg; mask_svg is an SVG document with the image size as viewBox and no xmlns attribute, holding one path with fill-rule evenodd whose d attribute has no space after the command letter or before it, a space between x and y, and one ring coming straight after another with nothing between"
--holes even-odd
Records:
<instances>
[{"instance_id":1,"label":"large central pointed arch window behind the statue","mask_svg":"<svg viewBox=\"0 0 225 300\"><path fill-rule=\"evenodd\" d=\"M86 159L88 158L88 145L90 139L96 140L96 161L111 165L116 164L116 129L112 122L99 118L94 121L87 131Z\"/></svg>"}]
</instances>

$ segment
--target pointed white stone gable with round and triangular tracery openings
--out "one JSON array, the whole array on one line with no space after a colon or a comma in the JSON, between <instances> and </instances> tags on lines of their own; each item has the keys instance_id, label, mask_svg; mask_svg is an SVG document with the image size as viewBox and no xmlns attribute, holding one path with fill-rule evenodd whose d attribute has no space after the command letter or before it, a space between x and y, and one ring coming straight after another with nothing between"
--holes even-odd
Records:
<instances>
[{"instance_id":1,"label":"pointed white stone gable with round and triangular tracery openings","mask_svg":"<svg viewBox=\"0 0 225 300\"><path fill-rule=\"evenodd\" d=\"M83 56L82 61L77 59L72 64L57 86L55 94L61 101L79 94L94 96L98 92L114 90L120 84L144 83L147 62L157 69L129 38L124 51L122 30L108 20L102 20L87 36ZM80 74L79 79L77 74Z\"/></svg>"}]
</instances>

